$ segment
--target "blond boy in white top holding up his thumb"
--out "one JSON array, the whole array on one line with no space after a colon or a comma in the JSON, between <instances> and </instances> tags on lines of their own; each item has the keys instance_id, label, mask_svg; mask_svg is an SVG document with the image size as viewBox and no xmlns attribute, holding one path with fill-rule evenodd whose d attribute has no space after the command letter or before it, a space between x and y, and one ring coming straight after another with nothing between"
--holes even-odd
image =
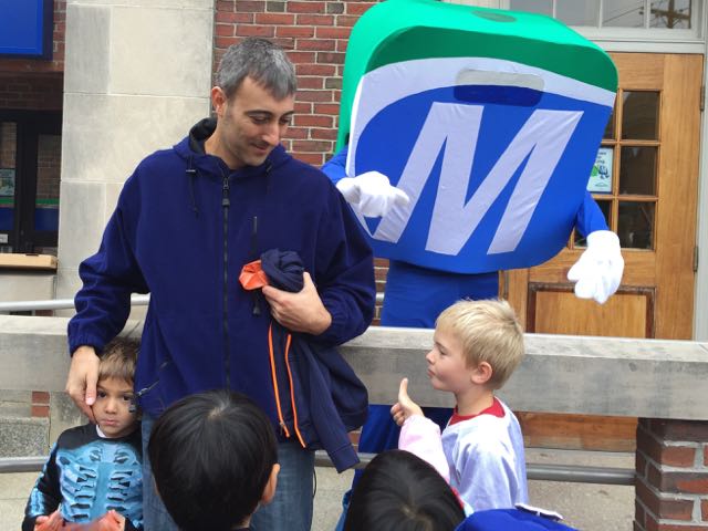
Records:
<instances>
[{"instance_id":1,"label":"blond boy in white top holding up his thumb","mask_svg":"<svg viewBox=\"0 0 708 531\"><path fill-rule=\"evenodd\" d=\"M438 455L436 468L475 511L528 502L521 428L494 396L523 353L521 326L506 301L458 302L439 315L426 355L433 387L452 393L457 404L441 439L408 397L406 378L392 408L403 426L399 447L431 461Z\"/></svg>"}]
</instances>

